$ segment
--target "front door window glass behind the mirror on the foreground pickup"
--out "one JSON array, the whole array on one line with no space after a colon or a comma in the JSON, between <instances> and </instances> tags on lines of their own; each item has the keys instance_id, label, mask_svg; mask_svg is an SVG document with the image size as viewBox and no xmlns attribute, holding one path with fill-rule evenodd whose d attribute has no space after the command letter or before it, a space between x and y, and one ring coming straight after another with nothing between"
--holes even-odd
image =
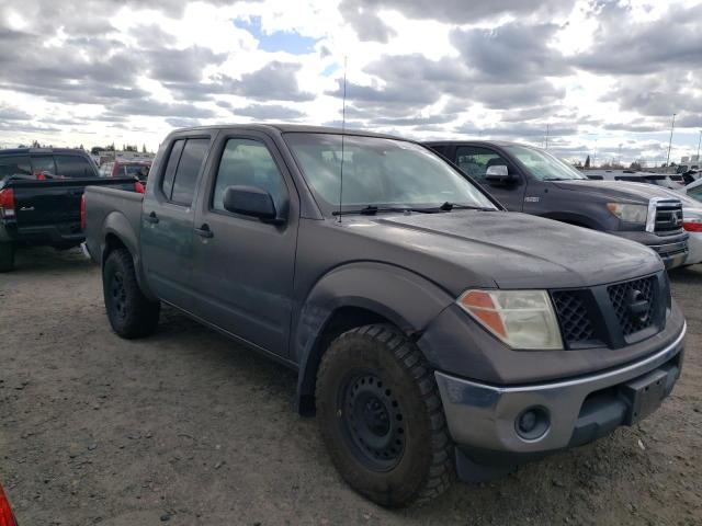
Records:
<instances>
[{"instance_id":1,"label":"front door window glass behind the mirror on the foreground pickup","mask_svg":"<svg viewBox=\"0 0 702 526\"><path fill-rule=\"evenodd\" d=\"M212 207L224 210L224 193L229 186L254 186L265 190L281 209L287 195L285 182L271 152L262 142L229 139L222 153Z\"/></svg>"}]
</instances>

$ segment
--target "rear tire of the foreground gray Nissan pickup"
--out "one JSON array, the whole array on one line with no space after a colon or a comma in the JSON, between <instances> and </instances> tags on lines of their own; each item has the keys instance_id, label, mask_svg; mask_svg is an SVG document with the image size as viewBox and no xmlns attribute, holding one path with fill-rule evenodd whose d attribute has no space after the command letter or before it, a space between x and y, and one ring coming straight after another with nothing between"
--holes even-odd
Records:
<instances>
[{"instance_id":1,"label":"rear tire of the foreground gray Nissan pickup","mask_svg":"<svg viewBox=\"0 0 702 526\"><path fill-rule=\"evenodd\" d=\"M151 301L139 288L134 261L126 249L110 253L102 270L102 286L112 330L125 339L151 334L161 311L159 301Z\"/></svg>"}]
</instances>

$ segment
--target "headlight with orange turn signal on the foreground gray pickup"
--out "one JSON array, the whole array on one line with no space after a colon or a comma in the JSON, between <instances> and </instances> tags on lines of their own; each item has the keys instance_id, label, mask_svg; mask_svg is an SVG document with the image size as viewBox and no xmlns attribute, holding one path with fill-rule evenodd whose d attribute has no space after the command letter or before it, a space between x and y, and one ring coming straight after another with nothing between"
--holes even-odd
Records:
<instances>
[{"instance_id":1,"label":"headlight with orange turn signal on the foreground gray pickup","mask_svg":"<svg viewBox=\"0 0 702 526\"><path fill-rule=\"evenodd\" d=\"M545 290L466 290L457 304L512 348L563 348Z\"/></svg>"}]
</instances>

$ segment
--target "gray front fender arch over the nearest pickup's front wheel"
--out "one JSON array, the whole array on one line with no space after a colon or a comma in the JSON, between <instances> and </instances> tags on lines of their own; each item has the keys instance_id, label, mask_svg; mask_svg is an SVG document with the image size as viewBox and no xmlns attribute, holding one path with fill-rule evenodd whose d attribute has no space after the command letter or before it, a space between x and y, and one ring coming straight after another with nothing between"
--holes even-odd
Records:
<instances>
[{"instance_id":1,"label":"gray front fender arch over the nearest pickup's front wheel","mask_svg":"<svg viewBox=\"0 0 702 526\"><path fill-rule=\"evenodd\" d=\"M294 323L292 356L298 364L295 405L314 407L317 368L325 331L342 308L359 308L382 317L410 338L442 312L453 298L437 284L406 268L370 261L338 266L312 287Z\"/></svg>"}]
</instances>

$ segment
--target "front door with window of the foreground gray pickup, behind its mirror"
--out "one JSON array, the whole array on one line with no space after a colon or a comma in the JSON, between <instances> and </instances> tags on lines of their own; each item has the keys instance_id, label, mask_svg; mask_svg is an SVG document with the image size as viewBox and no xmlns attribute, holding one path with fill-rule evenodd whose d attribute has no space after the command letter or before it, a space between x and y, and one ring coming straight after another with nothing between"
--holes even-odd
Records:
<instances>
[{"instance_id":1,"label":"front door with window of the foreground gray pickup, behind its mirror","mask_svg":"<svg viewBox=\"0 0 702 526\"><path fill-rule=\"evenodd\" d=\"M268 191L282 225L225 210L229 186ZM287 355L298 197L274 142L264 134L222 133L195 214L195 313L279 356Z\"/></svg>"}]
</instances>

